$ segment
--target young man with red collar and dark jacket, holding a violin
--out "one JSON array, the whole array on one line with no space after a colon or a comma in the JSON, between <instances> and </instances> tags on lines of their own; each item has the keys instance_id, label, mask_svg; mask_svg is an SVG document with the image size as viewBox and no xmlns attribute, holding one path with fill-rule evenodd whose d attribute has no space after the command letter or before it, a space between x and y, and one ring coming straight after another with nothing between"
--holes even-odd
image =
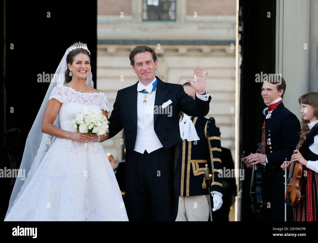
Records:
<instances>
[{"instance_id":1,"label":"young man with red collar and dark jacket, holding a violin","mask_svg":"<svg viewBox=\"0 0 318 243\"><path fill-rule=\"evenodd\" d=\"M261 130L261 153L251 153L242 158L248 168L257 164L261 171L261 194L264 203L260 209L261 221L285 220L285 173L280 169L280 165L285 158L290 160L299 139L299 120L282 102L286 82L282 77L276 77L264 81L261 91L268 107ZM291 220L292 209L287 206L287 221Z\"/></svg>"}]
</instances>

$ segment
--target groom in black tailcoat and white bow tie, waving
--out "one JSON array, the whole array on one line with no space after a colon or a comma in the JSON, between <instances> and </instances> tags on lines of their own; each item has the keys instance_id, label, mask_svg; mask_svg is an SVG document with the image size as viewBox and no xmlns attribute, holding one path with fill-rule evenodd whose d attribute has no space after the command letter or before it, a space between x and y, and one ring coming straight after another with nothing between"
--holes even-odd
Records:
<instances>
[{"instance_id":1,"label":"groom in black tailcoat and white bow tie, waving","mask_svg":"<svg viewBox=\"0 0 318 243\"><path fill-rule=\"evenodd\" d=\"M155 76L157 57L148 46L136 46L129 55L139 81L117 92L109 118L109 138L124 129L126 138L126 209L130 221L172 221L177 200L173 174L175 145L180 143L178 114L206 116L211 96L203 70L194 68L196 91L188 96L181 84ZM168 107L169 106L169 107Z\"/></svg>"}]
</instances>

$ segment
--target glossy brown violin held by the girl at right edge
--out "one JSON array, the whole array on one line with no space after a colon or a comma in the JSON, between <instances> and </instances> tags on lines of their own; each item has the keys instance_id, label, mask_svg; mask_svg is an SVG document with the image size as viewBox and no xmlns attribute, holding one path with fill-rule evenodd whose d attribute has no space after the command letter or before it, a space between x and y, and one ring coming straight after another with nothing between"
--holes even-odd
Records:
<instances>
[{"instance_id":1,"label":"glossy brown violin held by the girl at right edge","mask_svg":"<svg viewBox=\"0 0 318 243\"><path fill-rule=\"evenodd\" d=\"M296 146L296 150L300 149L302 144L306 141L306 136L304 134L300 135L301 140ZM296 153L296 152L295 152ZM285 203L287 205L297 205L301 198L305 195L301 194L299 182L302 174L302 165L298 161L293 161L289 170L287 178L287 189L285 194Z\"/></svg>"}]
</instances>

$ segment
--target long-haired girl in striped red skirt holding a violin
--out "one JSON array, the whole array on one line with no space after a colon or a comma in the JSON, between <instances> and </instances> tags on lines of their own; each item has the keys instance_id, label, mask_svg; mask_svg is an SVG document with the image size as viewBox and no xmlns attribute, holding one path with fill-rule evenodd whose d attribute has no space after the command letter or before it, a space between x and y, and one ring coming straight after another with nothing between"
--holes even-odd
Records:
<instances>
[{"instance_id":1,"label":"long-haired girl in striped red skirt holding a violin","mask_svg":"<svg viewBox=\"0 0 318 243\"><path fill-rule=\"evenodd\" d=\"M288 161L287 169L293 161L302 164L300 180L301 198L294 206L295 221L318 221L318 92L310 92L299 99L301 105L301 133L306 141L299 150L295 150ZM284 164L280 166L285 169Z\"/></svg>"}]
</instances>

